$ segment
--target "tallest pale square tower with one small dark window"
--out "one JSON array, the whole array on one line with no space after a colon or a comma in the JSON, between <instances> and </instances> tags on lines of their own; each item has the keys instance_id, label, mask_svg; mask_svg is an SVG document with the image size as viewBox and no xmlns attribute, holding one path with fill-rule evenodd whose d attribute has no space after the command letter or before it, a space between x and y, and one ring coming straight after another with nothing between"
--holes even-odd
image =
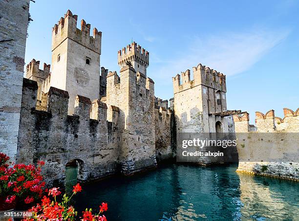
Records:
<instances>
[{"instance_id":1,"label":"tallest pale square tower with one small dark window","mask_svg":"<svg viewBox=\"0 0 299 221\"><path fill-rule=\"evenodd\" d=\"M100 96L100 55L102 32L81 21L70 10L52 30L52 71L50 86L68 91L68 114L74 113L77 94L98 99Z\"/></svg>"}]
</instances>

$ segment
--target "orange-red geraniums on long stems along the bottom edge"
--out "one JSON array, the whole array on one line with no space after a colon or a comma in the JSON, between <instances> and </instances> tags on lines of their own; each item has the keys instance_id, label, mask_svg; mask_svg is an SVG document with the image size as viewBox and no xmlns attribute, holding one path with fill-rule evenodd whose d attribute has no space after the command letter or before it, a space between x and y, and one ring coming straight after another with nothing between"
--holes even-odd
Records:
<instances>
[{"instance_id":1,"label":"orange-red geraniums on long stems along the bottom edge","mask_svg":"<svg viewBox=\"0 0 299 221\"><path fill-rule=\"evenodd\" d=\"M33 216L26 218L25 221L74 221L77 216L77 212L74 207L69 204L69 200L78 192L81 192L82 188L79 183L73 186L73 194L67 197L64 194L62 202L58 202L56 197L61 194L59 188L52 188L48 192L48 196L52 196L54 200L50 200L48 197L44 196L42 199L42 204L37 204L32 207L29 212L33 213ZM99 213L96 215L92 214L92 210L85 210L83 212L82 221L107 221L104 215L100 216L101 213L107 211L107 203L102 203L100 205Z\"/></svg>"}]
</instances>

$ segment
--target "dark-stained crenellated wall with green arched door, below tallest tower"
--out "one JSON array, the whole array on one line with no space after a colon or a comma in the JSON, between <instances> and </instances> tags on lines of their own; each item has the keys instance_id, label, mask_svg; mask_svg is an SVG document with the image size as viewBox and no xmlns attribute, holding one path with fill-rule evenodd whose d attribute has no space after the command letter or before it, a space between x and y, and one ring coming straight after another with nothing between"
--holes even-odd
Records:
<instances>
[{"instance_id":1,"label":"dark-stained crenellated wall with green arched door, below tallest tower","mask_svg":"<svg viewBox=\"0 0 299 221\"><path fill-rule=\"evenodd\" d=\"M47 111L36 110L37 82L23 80L18 163L45 161L43 175L48 185L64 185L65 165L77 161L78 179L94 180L118 169L118 115L99 100L78 95L74 115L67 115L68 93L58 88L48 92ZM107 111L112 119L107 121Z\"/></svg>"}]
</instances>

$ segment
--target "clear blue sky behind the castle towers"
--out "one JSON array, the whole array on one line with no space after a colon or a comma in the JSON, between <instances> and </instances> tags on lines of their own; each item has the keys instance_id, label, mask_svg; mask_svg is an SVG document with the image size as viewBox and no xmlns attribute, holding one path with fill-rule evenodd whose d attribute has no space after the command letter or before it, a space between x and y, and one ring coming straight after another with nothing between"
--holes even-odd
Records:
<instances>
[{"instance_id":1,"label":"clear blue sky behind the castle towers","mask_svg":"<svg viewBox=\"0 0 299 221\"><path fill-rule=\"evenodd\" d=\"M36 0L30 2L26 64L51 64L51 33L67 9L103 32L101 66L117 70L117 51L133 41L149 51L155 95L173 97L172 80L199 63L226 74L227 107L250 113L299 107L299 1ZM41 65L42 68L42 65Z\"/></svg>"}]
</instances>

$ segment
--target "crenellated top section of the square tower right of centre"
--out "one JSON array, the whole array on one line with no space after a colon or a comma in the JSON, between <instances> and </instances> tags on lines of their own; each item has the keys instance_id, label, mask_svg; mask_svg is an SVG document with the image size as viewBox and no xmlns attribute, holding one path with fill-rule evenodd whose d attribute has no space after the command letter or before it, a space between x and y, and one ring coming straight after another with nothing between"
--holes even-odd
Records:
<instances>
[{"instance_id":1,"label":"crenellated top section of the square tower right of centre","mask_svg":"<svg viewBox=\"0 0 299 221\"><path fill-rule=\"evenodd\" d=\"M174 93L196 87L198 85L204 85L209 88L219 89L226 92L226 76L210 67L198 66L193 67L193 80L191 80L191 71L187 69L185 72L177 74L172 77ZM182 78L182 82L181 82Z\"/></svg>"}]
</instances>

